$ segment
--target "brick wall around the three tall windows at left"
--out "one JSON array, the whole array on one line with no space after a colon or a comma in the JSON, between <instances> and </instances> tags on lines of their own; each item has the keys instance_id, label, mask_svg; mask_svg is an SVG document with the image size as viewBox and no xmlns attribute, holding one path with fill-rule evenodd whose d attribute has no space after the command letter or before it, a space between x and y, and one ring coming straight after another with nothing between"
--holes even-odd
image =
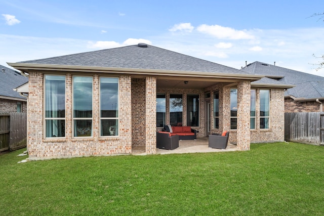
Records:
<instances>
[{"instance_id":1,"label":"brick wall around the three tall windows at left","mask_svg":"<svg viewBox=\"0 0 324 216\"><path fill-rule=\"evenodd\" d=\"M88 74L85 74L88 75ZM28 154L30 160L90 155L130 154L132 151L131 77L119 77L119 137L99 138L99 109L93 110L93 138L72 139L72 74L66 74L65 138L44 139L44 74L29 74ZM93 76L93 104L99 107L99 76Z\"/></svg>"}]
</instances>

